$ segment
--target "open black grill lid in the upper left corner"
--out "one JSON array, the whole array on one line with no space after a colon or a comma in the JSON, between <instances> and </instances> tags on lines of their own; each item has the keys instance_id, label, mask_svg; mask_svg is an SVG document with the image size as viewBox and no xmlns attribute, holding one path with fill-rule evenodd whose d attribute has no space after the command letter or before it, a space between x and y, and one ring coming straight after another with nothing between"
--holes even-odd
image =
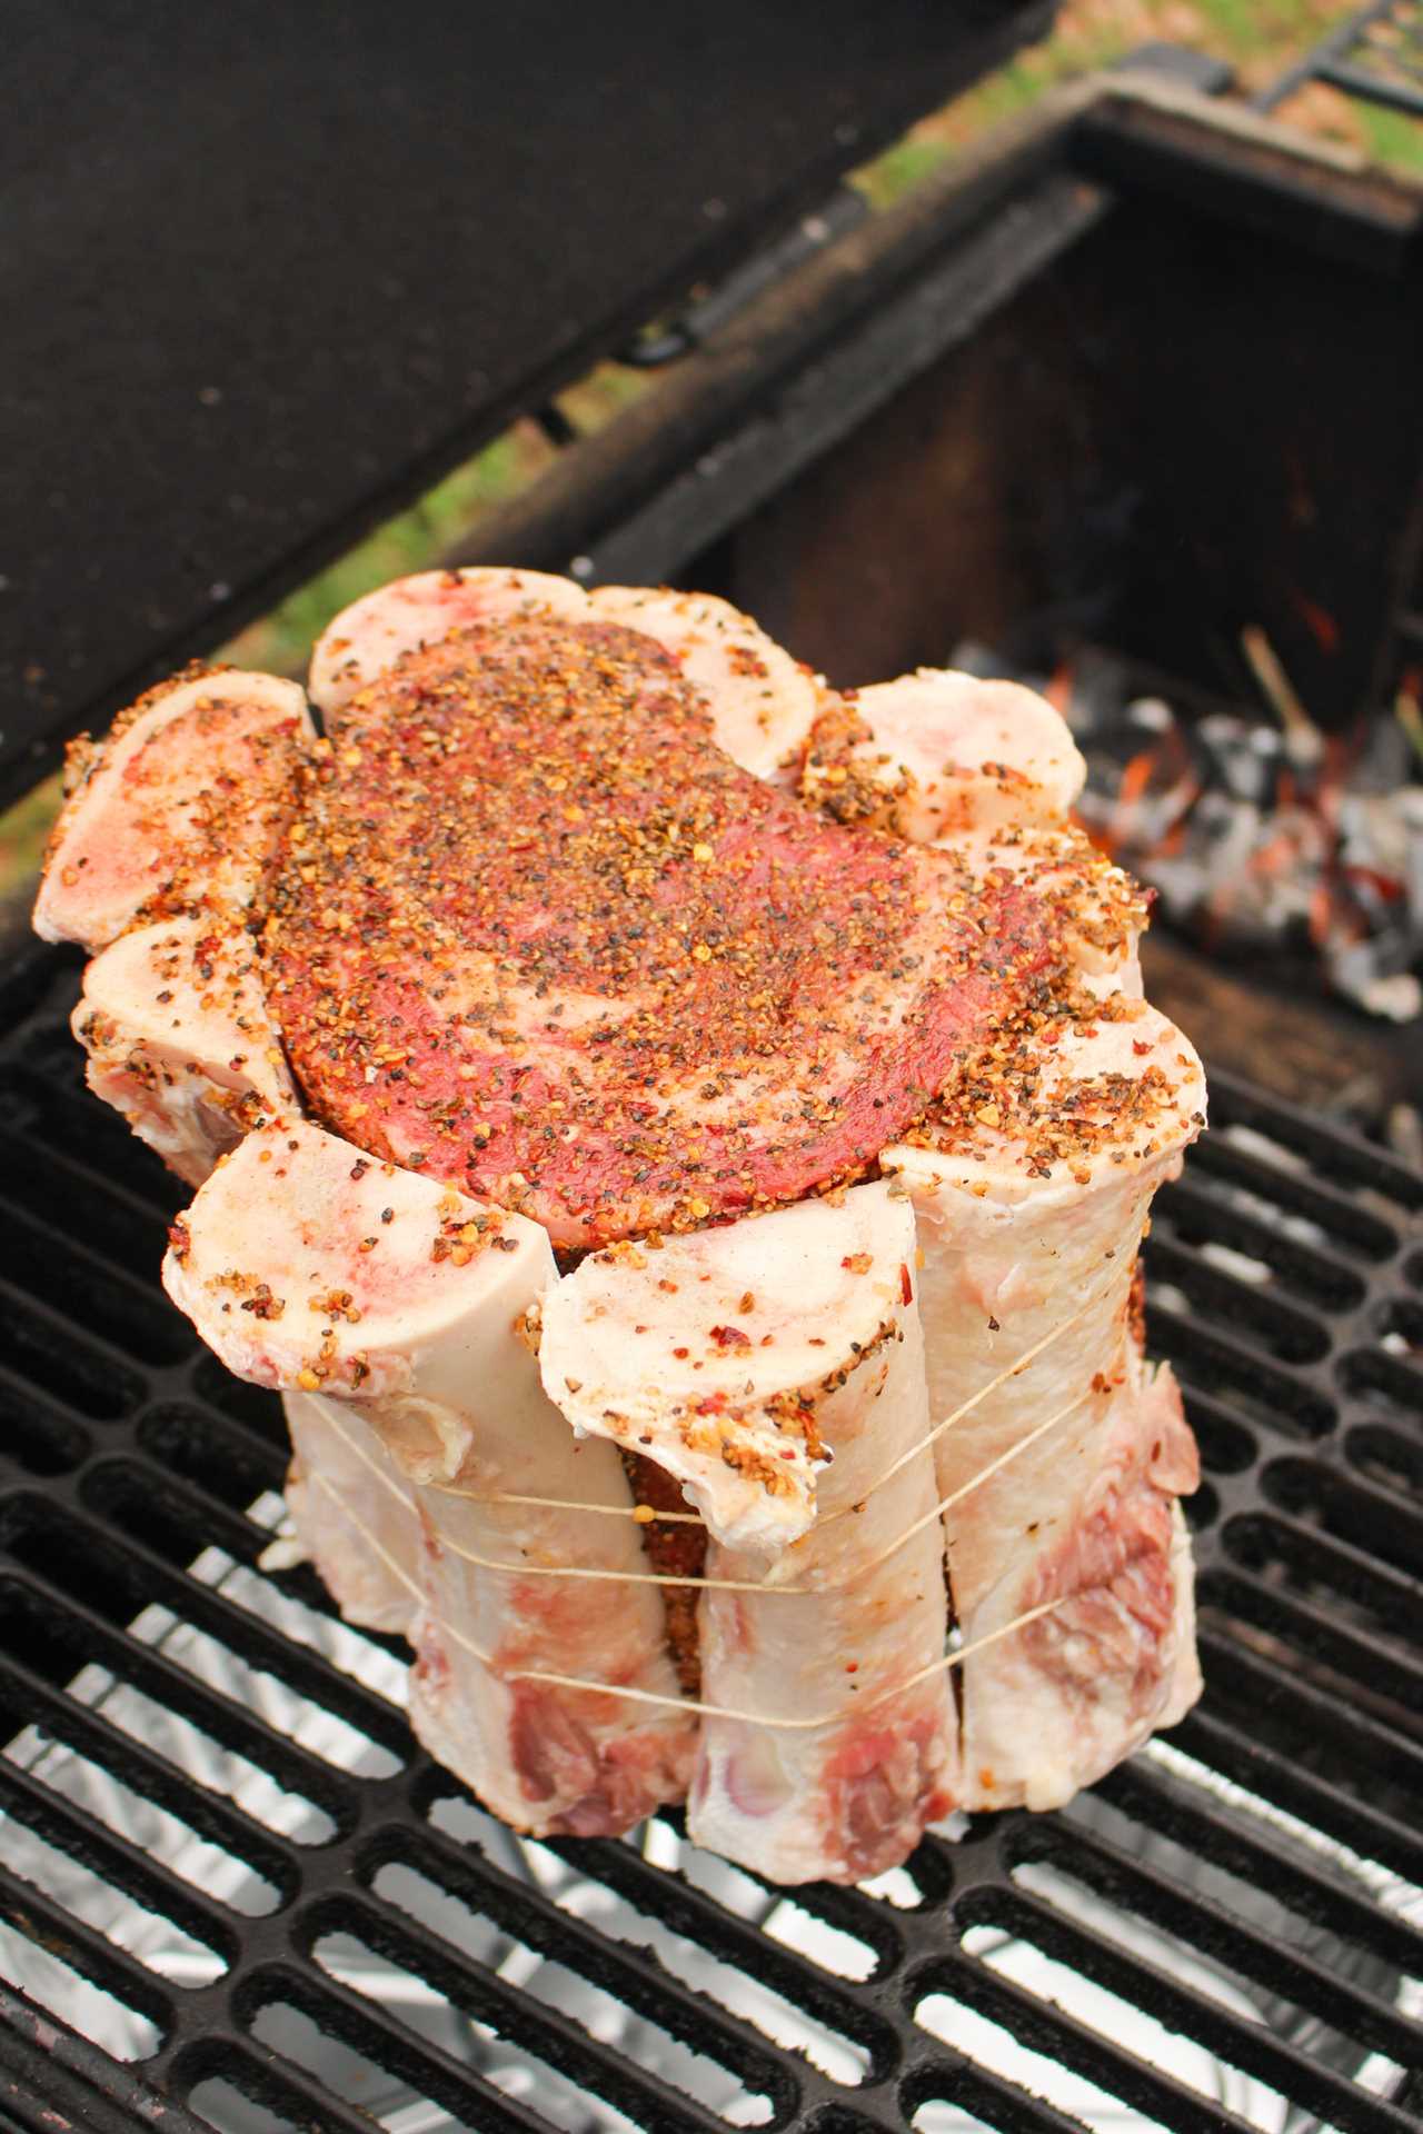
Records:
<instances>
[{"instance_id":1,"label":"open black grill lid in the upper left corner","mask_svg":"<svg viewBox=\"0 0 1423 2134\"><path fill-rule=\"evenodd\" d=\"M13 0L0 800L1050 17Z\"/></svg>"}]
</instances>

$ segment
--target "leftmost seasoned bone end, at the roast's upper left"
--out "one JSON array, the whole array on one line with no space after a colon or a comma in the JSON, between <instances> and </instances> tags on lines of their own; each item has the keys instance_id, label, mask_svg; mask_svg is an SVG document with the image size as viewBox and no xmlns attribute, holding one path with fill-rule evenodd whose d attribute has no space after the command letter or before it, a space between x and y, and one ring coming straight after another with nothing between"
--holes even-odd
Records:
<instances>
[{"instance_id":1,"label":"leftmost seasoned bone end, at the roast's upper left","mask_svg":"<svg viewBox=\"0 0 1423 2134\"><path fill-rule=\"evenodd\" d=\"M243 909L297 805L307 700L275 674L179 674L70 751L34 928L107 947L141 915Z\"/></svg>"}]
</instances>

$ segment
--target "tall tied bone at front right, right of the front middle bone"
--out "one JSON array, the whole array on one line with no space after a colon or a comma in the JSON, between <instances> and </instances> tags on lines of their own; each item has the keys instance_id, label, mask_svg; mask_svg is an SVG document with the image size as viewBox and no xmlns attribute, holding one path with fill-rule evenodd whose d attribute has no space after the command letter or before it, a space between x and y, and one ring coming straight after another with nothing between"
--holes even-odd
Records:
<instances>
[{"instance_id":1,"label":"tall tied bone at front right, right of the front middle bone","mask_svg":"<svg viewBox=\"0 0 1423 2134\"><path fill-rule=\"evenodd\" d=\"M1141 1374L1129 1291L1152 1193L1203 1120L1201 1067L1180 1031L1120 994L1101 1020L1082 997L1020 1048L1005 1048L1020 1076L969 1078L941 1108L924 1133L937 1146L883 1157L920 1214L932 1411L960 1408L1035 1351L941 1434L941 1494L1082 1398L1060 1432L945 1513L954 1607L969 1643L1043 1598L1112 1611L1122 1579L1144 1609L1137 1643L1118 1635L1084 1679L1060 1660L1058 1628L964 1667L964 1803L994 1807L1056 1805L1180 1716L1190 1637L1171 1496L1195 1485L1195 1449L1169 1374ZM1056 1321L1060 1338L1043 1342Z\"/></svg>"}]
</instances>

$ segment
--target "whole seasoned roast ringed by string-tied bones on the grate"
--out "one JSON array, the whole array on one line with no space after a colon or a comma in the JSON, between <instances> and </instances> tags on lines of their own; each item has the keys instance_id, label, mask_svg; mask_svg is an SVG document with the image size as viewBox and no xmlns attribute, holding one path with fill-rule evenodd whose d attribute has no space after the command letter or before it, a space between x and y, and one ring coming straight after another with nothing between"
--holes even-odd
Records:
<instances>
[{"instance_id":1,"label":"whole seasoned roast ringed by string-tied bones on the grate","mask_svg":"<svg viewBox=\"0 0 1423 2134\"><path fill-rule=\"evenodd\" d=\"M1137 1246L1203 1082L1080 781L1024 689L493 570L75 747L36 926L164 1283L516 1829L862 1880L1197 1697Z\"/></svg>"}]
</instances>

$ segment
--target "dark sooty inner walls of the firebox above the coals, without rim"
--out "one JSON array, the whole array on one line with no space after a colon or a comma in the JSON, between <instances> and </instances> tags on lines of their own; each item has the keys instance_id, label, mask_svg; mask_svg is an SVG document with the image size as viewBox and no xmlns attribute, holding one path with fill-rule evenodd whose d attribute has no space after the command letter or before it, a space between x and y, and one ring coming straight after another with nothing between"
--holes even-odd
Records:
<instances>
[{"instance_id":1,"label":"dark sooty inner walls of the firebox above the coals, without rim","mask_svg":"<svg viewBox=\"0 0 1423 2134\"><path fill-rule=\"evenodd\" d=\"M843 685L1097 642L1267 715L1259 625L1321 726L1389 702L1423 610L1423 277L1336 230L1353 256L1323 218L1291 243L1118 198L689 576Z\"/></svg>"}]
</instances>

